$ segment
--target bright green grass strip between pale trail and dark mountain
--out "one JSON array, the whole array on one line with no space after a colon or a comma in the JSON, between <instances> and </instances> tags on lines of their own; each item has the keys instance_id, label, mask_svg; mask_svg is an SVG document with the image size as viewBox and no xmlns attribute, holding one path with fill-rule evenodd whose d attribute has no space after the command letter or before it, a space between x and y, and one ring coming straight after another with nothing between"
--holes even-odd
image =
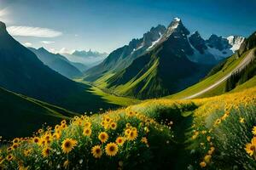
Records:
<instances>
[{"instance_id":1,"label":"bright green grass strip between pale trail and dark mountain","mask_svg":"<svg viewBox=\"0 0 256 170\"><path fill-rule=\"evenodd\" d=\"M170 96L167 96L165 98L167 99L183 99L187 96L190 96L192 94L196 94L198 92L200 92L201 90L211 86L214 82L218 82L218 80L220 80L222 77L225 77L226 75L228 75L231 71L233 71L237 65L239 65L239 63L241 62L242 59L244 59L247 54L249 53L249 51L247 51L246 53L242 54L242 56L238 59L236 59L236 54L232 55L227 62L224 64L223 68L218 71L216 74L207 77L206 79L202 80L201 82L196 83L195 85L186 88L185 90L177 93L177 94L173 94ZM222 84L223 86L223 84ZM218 86L216 87L218 88ZM218 92L221 92L219 90L219 88L216 90ZM213 94L216 94L216 91L213 92ZM212 92L209 92L210 94ZM204 94L206 96L210 96L210 94Z\"/></svg>"}]
</instances>

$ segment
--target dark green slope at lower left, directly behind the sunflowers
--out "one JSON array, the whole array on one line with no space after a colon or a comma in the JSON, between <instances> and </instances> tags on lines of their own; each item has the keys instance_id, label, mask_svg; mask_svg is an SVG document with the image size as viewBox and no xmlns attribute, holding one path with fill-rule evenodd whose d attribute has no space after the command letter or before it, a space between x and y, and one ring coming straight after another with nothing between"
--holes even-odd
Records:
<instances>
[{"instance_id":1,"label":"dark green slope at lower left, directly behind the sunflowers","mask_svg":"<svg viewBox=\"0 0 256 170\"><path fill-rule=\"evenodd\" d=\"M0 136L26 136L42 127L69 119L77 113L0 88Z\"/></svg>"}]
</instances>

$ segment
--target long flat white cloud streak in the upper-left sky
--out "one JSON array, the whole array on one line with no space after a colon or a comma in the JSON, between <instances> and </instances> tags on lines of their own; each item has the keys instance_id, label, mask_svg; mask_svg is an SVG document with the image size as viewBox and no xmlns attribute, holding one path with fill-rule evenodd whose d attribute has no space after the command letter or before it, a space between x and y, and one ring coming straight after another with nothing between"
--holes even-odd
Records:
<instances>
[{"instance_id":1,"label":"long flat white cloud streak in the upper-left sky","mask_svg":"<svg viewBox=\"0 0 256 170\"><path fill-rule=\"evenodd\" d=\"M31 26L9 26L7 31L9 31L12 36L25 37L59 37L62 35L61 31Z\"/></svg>"}]
</instances>

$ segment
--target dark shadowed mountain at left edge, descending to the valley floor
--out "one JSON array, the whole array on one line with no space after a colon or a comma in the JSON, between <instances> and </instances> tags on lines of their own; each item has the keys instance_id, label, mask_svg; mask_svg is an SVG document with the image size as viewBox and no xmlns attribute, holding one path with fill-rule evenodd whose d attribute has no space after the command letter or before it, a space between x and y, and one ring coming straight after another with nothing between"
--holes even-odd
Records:
<instances>
[{"instance_id":1,"label":"dark shadowed mountain at left edge, descending to the valley floor","mask_svg":"<svg viewBox=\"0 0 256 170\"><path fill-rule=\"evenodd\" d=\"M9 35L3 22L0 22L0 86L79 113L113 106L90 94L90 86L73 82L44 65L36 54Z\"/></svg>"}]
</instances>

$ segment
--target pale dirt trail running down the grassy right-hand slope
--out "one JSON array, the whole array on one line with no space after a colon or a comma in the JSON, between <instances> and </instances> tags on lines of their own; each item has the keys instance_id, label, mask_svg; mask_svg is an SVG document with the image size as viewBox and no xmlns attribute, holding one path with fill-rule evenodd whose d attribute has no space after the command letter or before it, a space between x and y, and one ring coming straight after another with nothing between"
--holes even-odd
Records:
<instances>
[{"instance_id":1,"label":"pale dirt trail running down the grassy right-hand slope","mask_svg":"<svg viewBox=\"0 0 256 170\"><path fill-rule=\"evenodd\" d=\"M196 94L190 95L188 97L185 97L183 99L192 99L195 98L197 96L200 96L201 94L206 93L207 91L211 90L212 88L217 87L220 83L224 82L225 80L227 80L234 72L236 71L241 71L241 69L243 69L254 57L254 50L251 50L249 52L249 54L247 54L247 56L241 61L241 63L239 65L236 66L236 68L231 71L228 75L226 75L225 77L222 77L220 80L218 80L218 82L214 82L211 86L209 86L208 88L205 88L203 90L201 90L201 92L198 92Z\"/></svg>"}]
</instances>

